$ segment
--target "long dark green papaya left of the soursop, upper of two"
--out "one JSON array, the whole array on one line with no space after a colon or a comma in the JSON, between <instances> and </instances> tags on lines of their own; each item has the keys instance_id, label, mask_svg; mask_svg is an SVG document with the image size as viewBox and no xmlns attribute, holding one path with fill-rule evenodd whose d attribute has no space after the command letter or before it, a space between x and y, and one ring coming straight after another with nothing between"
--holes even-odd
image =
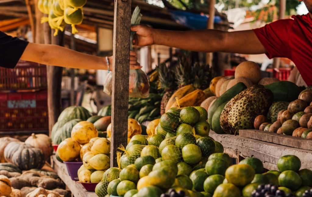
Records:
<instances>
[{"instance_id":1,"label":"long dark green papaya left of the soursop, upper of two","mask_svg":"<svg viewBox=\"0 0 312 197\"><path fill-rule=\"evenodd\" d=\"M225 102L230 101L234 96L236 96L241 91L245 90L247 87L244 83L239 82L226 92L224 92L220 97L218 97L211 105L208 111L208 123L212 125L212 117L217 108Z\"/></svg>"}]
</instances>

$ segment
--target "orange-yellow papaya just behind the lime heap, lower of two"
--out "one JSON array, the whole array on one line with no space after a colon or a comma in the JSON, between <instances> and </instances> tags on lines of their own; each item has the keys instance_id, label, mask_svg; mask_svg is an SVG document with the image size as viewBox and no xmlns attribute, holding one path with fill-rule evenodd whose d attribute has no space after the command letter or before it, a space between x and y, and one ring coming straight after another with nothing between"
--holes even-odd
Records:
<instances>
[{"instance_id":1,"label":"orange-yellow papaya just behind the lime heap, lower of two","mask_svg":"<svg viewBox=\"0 0 312 197\"><path fill-rule=\"evenodd\" d=\"M206 94L202 90L194 90L191 93L183 96L179 100L180 107L188 107L188 106L200 106L202 101L206 99ZM177 102L175 102L171 107L178 107Z\"/></svg>"}]
</instances>

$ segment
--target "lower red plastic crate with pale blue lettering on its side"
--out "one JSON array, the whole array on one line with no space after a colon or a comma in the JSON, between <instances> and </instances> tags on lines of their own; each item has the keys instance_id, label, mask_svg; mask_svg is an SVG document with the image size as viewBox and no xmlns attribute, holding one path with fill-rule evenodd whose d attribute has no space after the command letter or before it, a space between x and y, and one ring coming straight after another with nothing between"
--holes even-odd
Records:
<instances>
[{"instance_id":1,"label":"lower red plastic crate with pale blue lettering on its side","mask_svg":"<svg viewBox=\"0 0 312 197\"><path fill-rule=\"evenodd\" d=\"M0 92L0 131L47 130L47 91Z\"/></svg>"}]
</instances>

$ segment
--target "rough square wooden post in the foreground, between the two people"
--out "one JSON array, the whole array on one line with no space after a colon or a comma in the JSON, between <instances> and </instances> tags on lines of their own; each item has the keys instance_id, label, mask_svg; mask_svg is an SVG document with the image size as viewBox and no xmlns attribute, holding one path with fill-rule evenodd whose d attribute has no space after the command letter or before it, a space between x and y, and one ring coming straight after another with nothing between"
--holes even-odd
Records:
<instances>
[{"instance_id":1,"label":"rough square wooden post in the foreground, between the two people","mask_svg":"<svg viewBox=\"0 0 312 197\"><path fill-rule=\"evenodd\" d=\"M110 166L117 167L117 149L127 145L131 0L115 0ZM113 68L112 68L113 66Z\"/></svg>"}]
</instances>

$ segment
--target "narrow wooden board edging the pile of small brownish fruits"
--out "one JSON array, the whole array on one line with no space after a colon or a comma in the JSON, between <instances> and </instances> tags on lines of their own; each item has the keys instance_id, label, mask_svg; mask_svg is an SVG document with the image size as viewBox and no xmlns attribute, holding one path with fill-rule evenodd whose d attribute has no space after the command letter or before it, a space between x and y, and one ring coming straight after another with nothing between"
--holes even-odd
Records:
<instances>
[{"instance_id":1,"label":"narrow wooden board edging the pile of small brownish fruits","mask_svg":"<svg viewBox=\"0 0 312 197\"><path fill-rule=\"evenodd\" d=\"M296 138L289 135L280 135L254 129L240 130L239 136L280 144L293 148L312 150L312 140L310 139Z\"/></svg>"}]
</instances>

